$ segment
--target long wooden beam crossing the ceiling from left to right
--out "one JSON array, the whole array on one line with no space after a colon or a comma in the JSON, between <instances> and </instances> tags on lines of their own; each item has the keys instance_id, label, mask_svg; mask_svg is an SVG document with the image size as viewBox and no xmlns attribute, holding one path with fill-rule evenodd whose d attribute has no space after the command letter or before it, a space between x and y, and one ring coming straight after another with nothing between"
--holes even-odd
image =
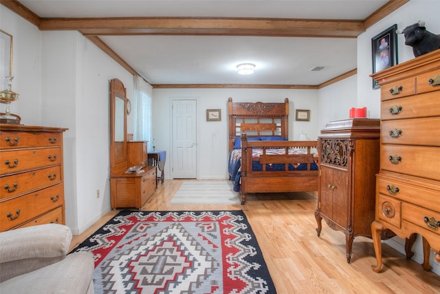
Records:
<instances>
[{"instance_id":1,"label":"long wooden beam crossing the ceiling from left to right","mask_svg":"<svg viewBox=\"0 0 440 294\"><path fill-rule=\"evenodd\" d=\"M85 35L228 35L312 36L355 38L363 21L322 19L248 19L191 17L132 17L103 19L41 18L40 30L79 30Z\"/></svg>"}]
</instances>

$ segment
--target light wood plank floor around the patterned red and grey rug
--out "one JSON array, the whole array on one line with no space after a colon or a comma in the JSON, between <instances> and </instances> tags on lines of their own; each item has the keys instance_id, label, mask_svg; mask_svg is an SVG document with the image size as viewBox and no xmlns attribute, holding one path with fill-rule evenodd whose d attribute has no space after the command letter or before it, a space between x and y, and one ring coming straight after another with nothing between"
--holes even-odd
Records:
<instances>
[{"instance_id":1,"label":"light wood plank floor around the patterned red and grey rug","mask_svg":"<svg viewBox=\"0 0 440 294\"><path fill-rule=\"evenodd\" d=\"M316 235L316 195L256 194L245 205L170 204L181 180L165 180L142 210L243 210L258 239L277 293L440 293L440 277L383 244L384 266L374 273L373 243L357 237L351 264L345 258L345 236L322 221ZM71 249L83 242L118 211L74 236Z\"/></svg>"}]
</instances>

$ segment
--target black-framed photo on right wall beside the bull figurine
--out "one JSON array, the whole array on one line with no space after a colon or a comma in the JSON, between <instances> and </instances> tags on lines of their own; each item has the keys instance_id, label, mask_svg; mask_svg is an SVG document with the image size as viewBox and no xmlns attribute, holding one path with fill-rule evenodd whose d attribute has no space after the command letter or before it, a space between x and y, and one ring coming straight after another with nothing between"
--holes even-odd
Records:
<instances>
[{"instance_id":1,"label":"black-framed photo on right wall beside the bull figurine","mask_svg":"<svg viewBox=\"0 0 440 294\"><path fill-rule=\"evenodd\" d=\"M373 74L397 64L397 25L377 34L371 39L371 60L373 62ZM373 89L379 87L379 83L373 79Z\"/></svg>"}]
</instances>

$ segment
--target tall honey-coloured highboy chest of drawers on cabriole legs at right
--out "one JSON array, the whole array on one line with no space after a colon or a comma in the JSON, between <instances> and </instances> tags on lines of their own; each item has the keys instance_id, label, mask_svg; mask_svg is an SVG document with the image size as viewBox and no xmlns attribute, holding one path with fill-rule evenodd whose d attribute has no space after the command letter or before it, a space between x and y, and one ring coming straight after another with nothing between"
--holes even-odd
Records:
<instances>
[{"instance_id":1,"label":"tall honey-coloured highboy chest of drawers on cabriole legs at right","mask_svg":"<svg viewBox=\"0 0 440 294\"><path fill-rule=\"evenodd\" d=\"M372 268L382 269L380 232L391 229L412 240L409 250L423 237L430 270L430 249L440 262L440 50L371 76L381 87L382 125Z\"/></svg>"}]
</instances>

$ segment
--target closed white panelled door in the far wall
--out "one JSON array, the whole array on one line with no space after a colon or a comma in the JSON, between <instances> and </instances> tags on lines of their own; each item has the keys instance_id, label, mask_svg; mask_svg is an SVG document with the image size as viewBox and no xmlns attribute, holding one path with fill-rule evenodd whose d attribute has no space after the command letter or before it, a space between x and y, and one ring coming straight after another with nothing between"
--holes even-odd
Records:
<instances>
[{"instance_id":1,"label":"closed white panelled door in the far wall","mask_svg":"<svg viewBox=\"0 0 440 294\"><path fill-rule=\"evenodd\" d=\"M173 178L197 178L195 100L173 100Z\"/></svg>"}]
</instances>

